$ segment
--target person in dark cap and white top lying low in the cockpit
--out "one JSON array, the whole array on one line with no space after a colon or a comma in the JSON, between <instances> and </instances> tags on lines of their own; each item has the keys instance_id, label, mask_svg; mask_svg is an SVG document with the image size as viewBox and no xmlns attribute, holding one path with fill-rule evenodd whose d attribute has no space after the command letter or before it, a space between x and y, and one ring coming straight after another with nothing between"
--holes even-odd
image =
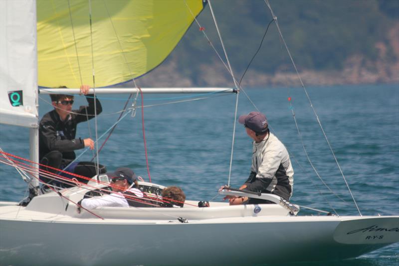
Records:
<instances>
[{"instance_id":1,"label":"person in dark cap and white top lying low in the cockpit","mask_svg":"<svg viewBox=\"0 0 399 266\"><path fill-rule=\"evenodd\" d=\"M91 210L97 207L129 207L128 200L124 197L126 192L133 183L137 187L137 176L135 173L127 167L120 167L113 173L107 173L108 179L111 180L112 193L102 197L86 198L79 202L83 208ZM133 194L129 194L130 197L143 198L144 194L137 188L129 190ZM131 196L132 195L132 196ZM80 213L80 207L78 206L77 212Z\"/></svg>"}]
</instances>

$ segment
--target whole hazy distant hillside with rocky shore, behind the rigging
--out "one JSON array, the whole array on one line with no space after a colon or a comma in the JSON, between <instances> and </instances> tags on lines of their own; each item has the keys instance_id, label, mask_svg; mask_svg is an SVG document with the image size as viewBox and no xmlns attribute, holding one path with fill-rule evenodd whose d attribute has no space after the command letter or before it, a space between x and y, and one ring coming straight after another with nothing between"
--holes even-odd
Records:
<instances>
[{"instance_id":1,"label":"whole hazy distant hillside with rocky shore, behind the rigging","mask_svg":"<svg viewBox=\"0 0 399 266\"><path fill-rule=\"evenodd\" d=\"M263 0L211 3L239 80L272 16ZM270 0L270 5L305 84L399 82L399 1ZM198 20L224 58L209 5ZM232 86L196 23L168 59L139 80L143 86ZM299 85L274 22L242 85Z\"/></svg>"}]
</instances>

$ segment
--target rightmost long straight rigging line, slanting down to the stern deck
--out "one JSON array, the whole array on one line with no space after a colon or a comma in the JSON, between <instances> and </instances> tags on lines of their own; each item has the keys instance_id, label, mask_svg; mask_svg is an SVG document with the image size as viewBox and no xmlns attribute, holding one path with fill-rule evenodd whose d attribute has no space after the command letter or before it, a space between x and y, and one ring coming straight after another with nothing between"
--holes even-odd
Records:
<instances>
[{"instance_id":1,"label":"rightmost long straight rigging line, slanting down to the stern deck","mask_svg":"<svg viewBox=\"0 0 399 266\"><path fill-rule=\"evenodd\" d=\"M270 4L269 4L269 0L264 0L264 1L265 1L265 3L266 3L267 7L269 7L269 10L270 10L270 12L271 12L271 14L272 14L272 16L273 16L273 19L274 19L274 21L275 21L275 23L276 23L278 32L279 32L279 34L280 34L280 36L281 36L281 39L282 39L282 41L283 41L283 43L284 43L284 46L285 46L285 48L286 48L286 50L287 50L287 53L288 53L288 55L289 55L289 57L290 57L290 59L291 59L292 65L294 66L294 69L295 69L295 72L296 72L296 74L297 74L297 76L298 76L298 79L299 79L299 81L301 82L301 85L302 85L302 88L303 88L304 91L305 91L306 97L308 98L308 101L309 101L309 103L310 103L310 107L312 108L313 113L314 113L314 115L316 116L316 119L317 119L317 122L319 123L320 129L321 129L321 131L323 132L323 135L324 135L324 138L325 138L326 141L327 141L328 147L330 148L330 151L331 151L331 153L332 153L332 155L333 155L333 157L334 157L334 160L335 160L335 162L336 162L336 164L337 164L337 166L338 166L338 169L340 170L341 175L342 175L342 177L343 177L343 179L344 179L344 181L345 181L345 184L346 184L346 186L347 186L347 188L348 188L348 190L349 190L349 193L351 194L351 197L352 197L352 199L353 199L353 202L355 203L356 209L358 210L359 215L362 216L362 213L360 212L359 206L358 206L358 204L356 203L355 197L354 197L353 194L352 194L352 191L351 191L351 189L350 189L350 187L349 187L349 184L348 184L348 182L347 182L347 180L346 180L346 178L345 178L345 175L344 175L344 173L343 173L343 171L342 171L342 169L341 169L341 166L340 166L340 164L338 163L337 157L335 156L335 153L334 153L334 151L333 151L333 148L331 147L330 141L329 141L328 138L327 138L326 132L324 131L323 126L321 125L319 116L317 115L316 110L315 110L315 108L314 108L314 106L313 106L313 104L312 104L312 101L310 100L310 96L309 96L309 94L308 94L308 92L307 92L307 90L306 90L306 88L305 88L305 85L304 85L303 82L302 82L302 78L301 78L301 76L299 75L298 68L296 67L295 62L294 62L294 59L293 59L292 56L291 56L291 52L289 51L288 46L287 46L287 43L285 42L284 37L283 37L283 34L281 33L280 27L279 27L278 22L277 22L277 17L274 15L273 9L271 8L271 6L270 6Z\"/></svg>"}]
</instances>

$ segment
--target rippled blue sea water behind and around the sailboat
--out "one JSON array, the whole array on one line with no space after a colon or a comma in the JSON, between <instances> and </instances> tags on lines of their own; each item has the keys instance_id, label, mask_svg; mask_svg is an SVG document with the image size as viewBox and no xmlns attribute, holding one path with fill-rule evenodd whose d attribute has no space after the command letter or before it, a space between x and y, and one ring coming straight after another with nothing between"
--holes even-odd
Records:
<instances>
[{"instance_id":1,"label":"rippled blue sea water behind and around the sailboat","mask_svg":"<svg viewBox=\"0 0 399 266\"><path fill-rule=\"evenodd\" d=\"M399 85L312 87L308 92L362 214L399 215ZM291 201L331 212L335 210L339 215L358 215L303 89L258 88L247 89L246 93L266 114L272 131L291 154L295 171ZM195 95L144 95L144 105L155 105L144 108L148 161L152 182L178 185L189 199L220 201L217 189L228 183L235 94L206 96L210 98L159 105L193 99ZM292 108L288 97L291 97ZM42 116L52 108L46 102L48 95L40 95L40 98ZM100 95L100 98L103 113L97 119L98 136L116 121L119 114L115 112L123 108L127 96ZM85 104L83 97L75 99L75 107ZM140 99L137 102L141 105ZM254 109L241 92L238 114ZM322 184L306 159L291 109L303 145L332 192ZM246 180L251 164L251 140L242 125L237 123L236 126L232 187L239 187ZM89 124L82 123L78 136L94 139L94 128L94 119ZM99 146L104 139L99 140ZM0 147L5 152L28 158L28 130L0 125ZM86 151L79 160L90 160L92 156L91 151ZM141 108L137 109L135 117L129 114L118 124L99 160L108 170L127 166L149 180ZM25 192L26 184L16 171L0 164L0 200L19 201ZM301 213L317 215L307 210ZM399 244L355 260L322 265L399 265Z\"/></svg>"}]
</instances>

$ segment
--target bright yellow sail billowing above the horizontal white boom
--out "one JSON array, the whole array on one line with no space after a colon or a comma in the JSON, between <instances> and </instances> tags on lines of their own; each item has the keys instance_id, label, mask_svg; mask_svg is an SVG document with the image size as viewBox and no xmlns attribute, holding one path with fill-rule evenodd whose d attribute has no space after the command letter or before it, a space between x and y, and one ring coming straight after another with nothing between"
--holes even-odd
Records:
<instances>
[{"instance_id":1,"label":"bright yellow sail billowing above the horizontal white boom","mask_svg":"<svg viewBox=\"0 0 399 266\"><path fill-rule=\"evenodd\" d=\"M96 87L144 75L202 8L202 0L37 0L39 86L94 86L93 72Z\"/></svg>"}]
</instances>

